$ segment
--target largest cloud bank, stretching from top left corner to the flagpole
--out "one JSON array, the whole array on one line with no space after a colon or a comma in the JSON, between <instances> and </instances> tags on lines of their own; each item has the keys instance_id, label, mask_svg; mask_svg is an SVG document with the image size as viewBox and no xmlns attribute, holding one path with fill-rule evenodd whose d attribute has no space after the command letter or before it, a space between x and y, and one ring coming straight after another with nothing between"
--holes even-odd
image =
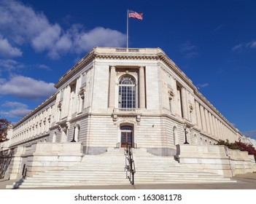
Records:
<instances>
[{"instance_id":1,"label":"largest cloud bank, stretching from top left corner to the flagpole","mask_svg":"<svg viewBox=\"0 0 256 204\"><path fill-rule=\"evenodd\" d=\"M0 1L0 31L7 42L31 44L36 52L47 52L56 59L66 52L85 52L95 46L123 47L125 34L109 28L84 31L81 25L63 30L58 23L52 24L43 13L36 12L20 1ZM16 55L22 53L13 47ZM20 53L18 52L20 51Z\"/></svg>"}]
</instances>

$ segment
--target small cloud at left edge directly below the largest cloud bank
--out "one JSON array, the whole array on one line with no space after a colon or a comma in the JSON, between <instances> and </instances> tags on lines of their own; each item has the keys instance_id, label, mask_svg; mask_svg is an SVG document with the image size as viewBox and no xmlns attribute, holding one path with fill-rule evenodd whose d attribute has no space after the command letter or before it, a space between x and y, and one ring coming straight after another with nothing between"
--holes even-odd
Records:
<instances>
[{"instance_id":1,"label":"small cloud at left edge directly below the largest cloud bank","mask_svg":"<svg viewBox=\"0 0 256 204\"><path fill-rule=\"evenodd\" d=\"M20 57L22 52L17 47L12 47L8 40L0 35L0 55L4 57Z\"/></svg>"}]
</instances>

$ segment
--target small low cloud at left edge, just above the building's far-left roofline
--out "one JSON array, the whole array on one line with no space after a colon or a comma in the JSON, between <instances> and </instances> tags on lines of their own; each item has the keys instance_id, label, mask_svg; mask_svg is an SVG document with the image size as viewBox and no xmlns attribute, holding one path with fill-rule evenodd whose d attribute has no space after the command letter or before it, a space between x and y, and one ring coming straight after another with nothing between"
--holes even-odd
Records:
<instances>
[{"instance_id":1,"label":"small low cloud at left edge, just above the building's far-left roofline","mask_svg":"<svg viewBox=\"0 0 256 204\"><path fill-rule=\"evenodd\" d=\"M10 109L9 111L0 111L3 117L24 117L31 111L26 104L16 101L7 101L1 106Z\"/></svg>"}]
</instances>

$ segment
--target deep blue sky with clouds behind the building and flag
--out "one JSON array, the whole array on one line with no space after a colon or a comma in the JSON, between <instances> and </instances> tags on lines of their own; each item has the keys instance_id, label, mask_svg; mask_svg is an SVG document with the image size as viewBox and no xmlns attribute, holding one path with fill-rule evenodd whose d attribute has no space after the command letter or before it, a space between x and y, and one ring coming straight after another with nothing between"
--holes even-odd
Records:
<instances>
[{"instance_id":1,"label":"deep blue sky with clouds behind the building and flag","mask_svg":"<svg viewBox=\"0 0 256 204\"><path fill-rule=\"evenodd\" d=\"M256 138L256 1L0 0L0 115L12 122L95 46L160 47L242 133Z\"/></svg>"}]
</instances>

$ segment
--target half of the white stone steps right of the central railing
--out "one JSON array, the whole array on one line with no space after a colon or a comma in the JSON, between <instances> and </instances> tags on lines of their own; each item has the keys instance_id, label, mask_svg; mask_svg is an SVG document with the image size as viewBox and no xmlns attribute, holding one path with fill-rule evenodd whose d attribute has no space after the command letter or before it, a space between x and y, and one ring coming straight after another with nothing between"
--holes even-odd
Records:
<instances>
[{"instance_id":1,"label":"half of the white stone steps right of the central railing","mask_svg":"<svg viewBox=\"0 0 256 204\"><path fill-rule=\"evenodd\" d=\"M138 151L139 150L139 151ZM198 184L233 183L236 181L218 174L189 169L174 157L159 157L143 149L133 149L135 184Z\"/></svg>"}]
</instances>

